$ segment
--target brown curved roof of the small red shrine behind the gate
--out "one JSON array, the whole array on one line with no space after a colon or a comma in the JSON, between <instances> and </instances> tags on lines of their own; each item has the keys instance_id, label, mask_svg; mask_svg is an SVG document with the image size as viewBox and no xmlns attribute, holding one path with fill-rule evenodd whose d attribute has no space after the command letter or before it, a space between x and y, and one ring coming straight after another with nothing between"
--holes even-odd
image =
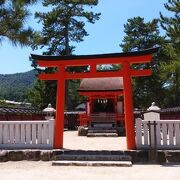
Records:
<instances>
[{"instance_id":1,"label":"brown curved roof of the small red shrine behind the gate","mask_svg":"<svg viewBox=\"0 0 180 180\"><path fill-rule=\"evenodd\" d=\"M84 78L79 87L79 92L121 91L123 78Z\"/></svg>"}]
</instances>

